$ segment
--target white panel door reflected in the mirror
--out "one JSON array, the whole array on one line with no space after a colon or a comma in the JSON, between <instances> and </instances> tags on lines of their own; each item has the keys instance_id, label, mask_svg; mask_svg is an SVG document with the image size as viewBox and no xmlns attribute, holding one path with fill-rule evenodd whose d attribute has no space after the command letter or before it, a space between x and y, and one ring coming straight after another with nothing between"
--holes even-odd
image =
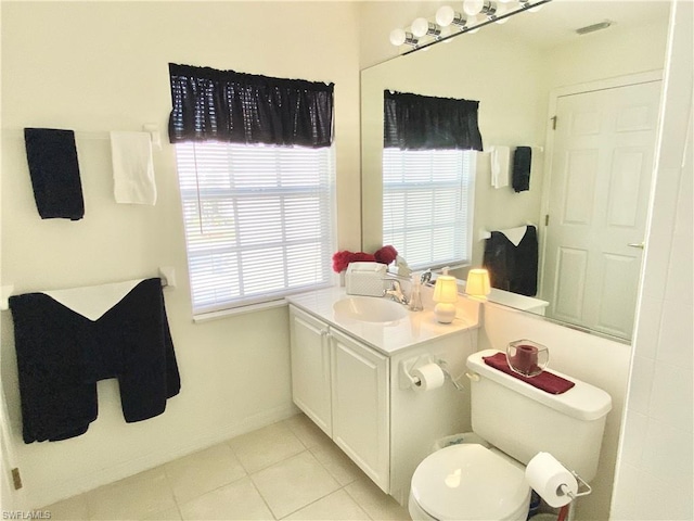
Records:
<instances>
[{"instance_id":1,"label":"white panel door reflected in the mirror","mask_svg":"<svg viewBox=\"0 0 694 521\"><path fill-rule=\"evenodd\" d=\"M660 81L557 100L548 315L629 339L654 167Z\"/></svg>"}]
</instances>

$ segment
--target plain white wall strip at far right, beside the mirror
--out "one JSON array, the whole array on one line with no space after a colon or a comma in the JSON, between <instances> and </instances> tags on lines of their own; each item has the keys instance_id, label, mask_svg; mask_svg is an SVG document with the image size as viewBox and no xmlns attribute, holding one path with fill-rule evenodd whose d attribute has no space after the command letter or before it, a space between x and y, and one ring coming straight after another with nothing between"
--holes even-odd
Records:
<instances>
[{"instance_id":1,"label":"plain white wall strip at far right, beside the mirror","mask_svg":"<svg viewBox=\"0 0 694 521\"><path fill-rule=\"evenodd\" d=\"M614 520L694 519L693 8L677 2Z\"/></svg>"}]
</instances>

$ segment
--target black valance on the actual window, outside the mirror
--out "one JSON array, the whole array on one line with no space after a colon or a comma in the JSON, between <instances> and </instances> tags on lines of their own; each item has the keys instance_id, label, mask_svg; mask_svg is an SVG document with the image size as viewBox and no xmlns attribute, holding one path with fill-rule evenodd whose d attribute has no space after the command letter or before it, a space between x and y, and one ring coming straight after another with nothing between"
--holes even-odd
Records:
<instances>
[{"instance_id":1,"label":"black valance on the actual window, outside the mirror","mask_svg":"<svg viewBox=\"0 0 694 521\"><path fill-rule=\"evenodd\" d=\"M169 141L330 147L333 84L169 63Z\"/></svg>"}]
</instances>

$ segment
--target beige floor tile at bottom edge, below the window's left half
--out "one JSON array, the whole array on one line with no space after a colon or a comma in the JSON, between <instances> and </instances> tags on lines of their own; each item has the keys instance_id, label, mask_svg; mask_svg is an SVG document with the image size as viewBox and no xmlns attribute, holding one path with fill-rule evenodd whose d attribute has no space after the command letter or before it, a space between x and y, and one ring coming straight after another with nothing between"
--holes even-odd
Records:
<instances>
[{"instance_id":1,"label":"beige floor tile at bottom edge, below the window's left half","mask_svg":"<svg viewBox=\"0 0 694 521\"><path fill-rule=\"evenodd\" d=\"M272 512L249 478L208 492L181 505L184 520L272 520Z\"/></svg>"}]
</instances>

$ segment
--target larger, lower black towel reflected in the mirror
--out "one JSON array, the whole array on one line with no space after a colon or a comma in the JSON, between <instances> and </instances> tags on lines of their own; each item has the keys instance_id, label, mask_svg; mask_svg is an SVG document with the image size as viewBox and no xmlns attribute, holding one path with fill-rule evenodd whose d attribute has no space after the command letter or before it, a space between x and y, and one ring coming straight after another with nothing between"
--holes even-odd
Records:
<instances>
[{"instance_id":1,"label":"larger, lower black towel reflected in the mirror","mask_svg":"<svg viewBox=\"0 0 694 521\"><path fill-rule=\"evenodd\" d=\"M518 245L500 231L492 231L485 242L483 266L489 271L492 288L520 295L538 292L538 233L528 226Z\"/></svg>"}]
</instances>

